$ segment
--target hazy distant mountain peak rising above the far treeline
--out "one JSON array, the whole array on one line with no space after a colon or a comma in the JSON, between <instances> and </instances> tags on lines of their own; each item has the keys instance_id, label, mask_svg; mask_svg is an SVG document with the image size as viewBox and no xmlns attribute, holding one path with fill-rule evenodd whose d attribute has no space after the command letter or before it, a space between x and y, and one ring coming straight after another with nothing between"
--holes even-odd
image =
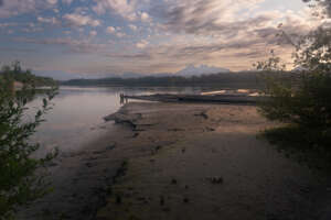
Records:
<instances>
[{"instance_id":1,"label":"hazy distant mountain peak rising above the far treeline","mask_svg":"<svg viewBox=\"0 0 331 220\"><path fill-rule=\"evenodd\" d=\"M184 69L178 72L177 76L191 77L191 76L201 76L206 74L220 74L220 73L229 73L229 69L213 67L207 65L188 65Z\"/></svg>"}]
</instances>

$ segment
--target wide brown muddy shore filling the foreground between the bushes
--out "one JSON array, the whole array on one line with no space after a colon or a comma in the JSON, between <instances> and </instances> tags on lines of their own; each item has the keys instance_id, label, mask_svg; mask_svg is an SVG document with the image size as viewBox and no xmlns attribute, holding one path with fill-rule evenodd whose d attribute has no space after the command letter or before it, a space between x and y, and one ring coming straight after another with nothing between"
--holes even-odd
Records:
<instances>
[{"instance_id":1,"label":"wide brown muddy shore filling the foreground between the bushes","mask_svg":"<svg viewBox=\"0 0 331 220\"><path fill-rule=\"evenodd\" d=\"M107 134L51 167L54 191L19 219L320 219L320 174L258 133L256 107L132 102ZM111 125L110 125L111 124Z\"/></svg>"}]
</instances>

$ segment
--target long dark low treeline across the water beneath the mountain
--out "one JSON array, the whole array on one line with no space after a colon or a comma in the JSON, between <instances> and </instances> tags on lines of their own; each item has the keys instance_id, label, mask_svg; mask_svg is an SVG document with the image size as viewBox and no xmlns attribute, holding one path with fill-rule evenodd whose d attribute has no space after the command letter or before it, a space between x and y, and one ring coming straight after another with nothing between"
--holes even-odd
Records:
<instances>
[{"instance_id":1,"label":"long dark low treeline across the water beneath the mountain","mask_svg":"<svg viewBox=\"0 0 331 220\"><path fill-rule=\"evenodd\" d=\"M260 73L241 72L222 73L190 78L181 76L140 77L140 78L100 78L72 79L62 81L66 86L129 86L129 87L222 87L222 88L252 88L261 86Z\"/></svg>"}]
</instances>

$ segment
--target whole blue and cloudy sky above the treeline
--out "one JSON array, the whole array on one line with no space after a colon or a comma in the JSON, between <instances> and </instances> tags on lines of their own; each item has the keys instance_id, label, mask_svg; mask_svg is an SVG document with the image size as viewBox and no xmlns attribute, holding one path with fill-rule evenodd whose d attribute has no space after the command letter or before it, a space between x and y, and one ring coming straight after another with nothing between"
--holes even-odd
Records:
<instances>
[{"instance_id":1,"label":"whole blue and cloudy sky above the treeline","mask_svg":"<svg viewBox=\"0 0 331 220\"><path fill-rule=\"evenodd\" d=\"M56 75L252 69L317 25L301 0L0 0L0 65ZM77 75L76 75L77 76Z\"/></svg>"}]
</instances>

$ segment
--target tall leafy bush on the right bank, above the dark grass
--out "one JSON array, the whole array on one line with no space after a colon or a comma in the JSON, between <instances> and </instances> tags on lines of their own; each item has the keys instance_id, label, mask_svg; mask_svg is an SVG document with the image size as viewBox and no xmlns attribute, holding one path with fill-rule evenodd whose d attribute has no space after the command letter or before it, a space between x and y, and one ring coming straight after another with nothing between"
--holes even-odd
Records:
<instances>
[{"instance_id":1,"label":"tall leafy bush on the right bank, above the dark grass","mask_svg":"<svg viewBox=\"0 0 331 220\"><path fill-rule=\"evenodd\" d=\"M266 82L267 99L259 107L265 117L320 132L331 128L330 40L331 32L324 29L302 37L293 57L303 70L286 72L274 53L257 64Z\"/></svg>"}]
</instances>

